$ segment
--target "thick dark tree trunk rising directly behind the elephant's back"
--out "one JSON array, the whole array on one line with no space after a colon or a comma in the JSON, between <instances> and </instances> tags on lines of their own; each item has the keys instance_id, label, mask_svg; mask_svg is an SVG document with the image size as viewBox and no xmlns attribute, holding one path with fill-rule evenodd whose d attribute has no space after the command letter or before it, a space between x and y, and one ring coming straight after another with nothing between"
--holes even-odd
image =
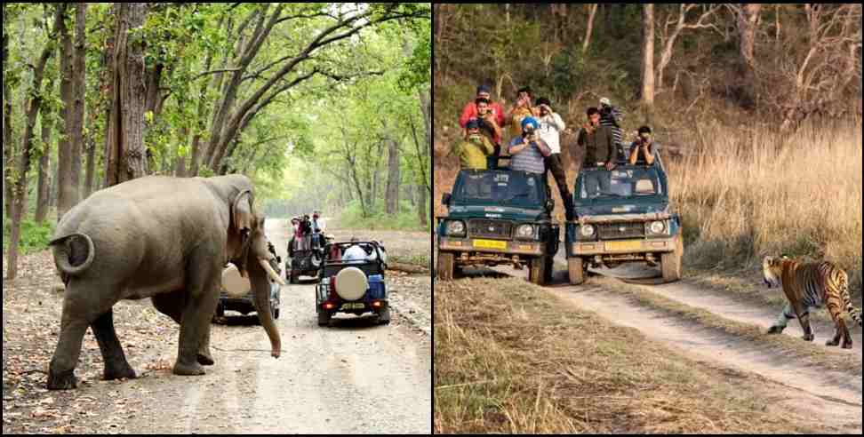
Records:
<instances>
[{"instance_id":1,"label":"thick dark tree trunk rising directly behind the elephant's back","mask_svg":"<svg viewBox=\"0 0 864 437\"><path fill-rule=\"evenodd\" d=\"M117 8L113 59L113 104L108 124L105 187L140 178L147 171L144 149L144 41L130 41L129 32L143 26L147 4Z\"/></svg>"}]
</instances>

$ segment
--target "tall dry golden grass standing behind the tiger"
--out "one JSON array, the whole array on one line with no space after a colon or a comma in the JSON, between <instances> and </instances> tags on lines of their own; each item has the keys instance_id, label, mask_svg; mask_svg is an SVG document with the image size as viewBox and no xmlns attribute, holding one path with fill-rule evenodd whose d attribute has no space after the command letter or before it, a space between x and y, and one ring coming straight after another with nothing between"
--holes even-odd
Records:
<instances>
[{"instance_id":1,"label":"tall dry golden grass standing behind the tiger","mask_svg":"<svg viewBox=\"0 0 864 437\"><path fill-rule=\"evenodd\" d=\"M861 125L794 134L710 127L668 163L694 266L758 266L767 254L828 259L861 283Z\"/></svg>"}]
</instances>

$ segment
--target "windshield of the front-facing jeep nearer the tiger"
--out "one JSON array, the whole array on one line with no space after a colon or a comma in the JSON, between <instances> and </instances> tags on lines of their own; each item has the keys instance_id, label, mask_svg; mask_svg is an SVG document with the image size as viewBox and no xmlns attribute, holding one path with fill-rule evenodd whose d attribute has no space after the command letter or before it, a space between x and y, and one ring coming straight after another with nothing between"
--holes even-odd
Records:
<instances>
[{"instance_id":1,"label":"windshield of the front-facing jeep nearer the tiger","mask_svg":"<svg viewBox=\"0 0 864 437\"><path fill-rule=\"evenodd\" d=\"M614 200L665 196L657 167L623 166L612 171L586 170L580 174L577 200Z\"/></svg>"}]
</instances>

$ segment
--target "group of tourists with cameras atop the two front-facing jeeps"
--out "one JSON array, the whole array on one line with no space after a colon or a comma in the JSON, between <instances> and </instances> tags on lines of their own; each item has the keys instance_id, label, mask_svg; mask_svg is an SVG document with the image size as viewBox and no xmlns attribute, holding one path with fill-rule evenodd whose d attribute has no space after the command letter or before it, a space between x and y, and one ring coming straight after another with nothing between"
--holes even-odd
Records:
<instances>
[{"instance_id":1,"label":"group of tourists with cameras atop the two front-facing jeeps","mask_svg":"<svg viewBox=\"0 0 864 437\"><path fill-rule=\"evenodd\" d=\"M651 128L640 127L625 152L620 109L608 98L599 103L599 107L588 107L588 121L577 136L576 143L585 147L581 170L612 171L622 161L653 165L659 147ZM549 99L534 99L531 88L524 87L516 91L516 102L505 111L492 101L490 87L481 84L476 98L462 109L459 124L463 135L453 153L459 156L461 168L498 170L499 159L509 157L511 171L542 174L544 179L551 172L564 200L566 218L573 219L573 198L561 161L561 133L566 124Z\"/></svg>"}]
</instances>

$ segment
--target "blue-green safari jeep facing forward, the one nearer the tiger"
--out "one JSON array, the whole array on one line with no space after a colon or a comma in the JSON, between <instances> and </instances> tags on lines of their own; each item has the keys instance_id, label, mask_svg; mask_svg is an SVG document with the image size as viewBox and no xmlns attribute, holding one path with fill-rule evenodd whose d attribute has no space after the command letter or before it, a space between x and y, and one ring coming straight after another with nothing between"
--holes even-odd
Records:
<instances>
[{"instance_id":1,"label":"blue-green safari jeep facing forward, the one nearer the tiger","mask_svg":"<svg viewBox=\"0 0 864 437\"><path fill-rule=\"evenodd\" d=\"M650 167L625 162L612 171L580 171L575 188L577 221L565 232L570 283L584 282L589 266L633 262L660 266L667 282L681 278L681 219L669 211L659 159Z\"/></svg>"}]
</instances>

